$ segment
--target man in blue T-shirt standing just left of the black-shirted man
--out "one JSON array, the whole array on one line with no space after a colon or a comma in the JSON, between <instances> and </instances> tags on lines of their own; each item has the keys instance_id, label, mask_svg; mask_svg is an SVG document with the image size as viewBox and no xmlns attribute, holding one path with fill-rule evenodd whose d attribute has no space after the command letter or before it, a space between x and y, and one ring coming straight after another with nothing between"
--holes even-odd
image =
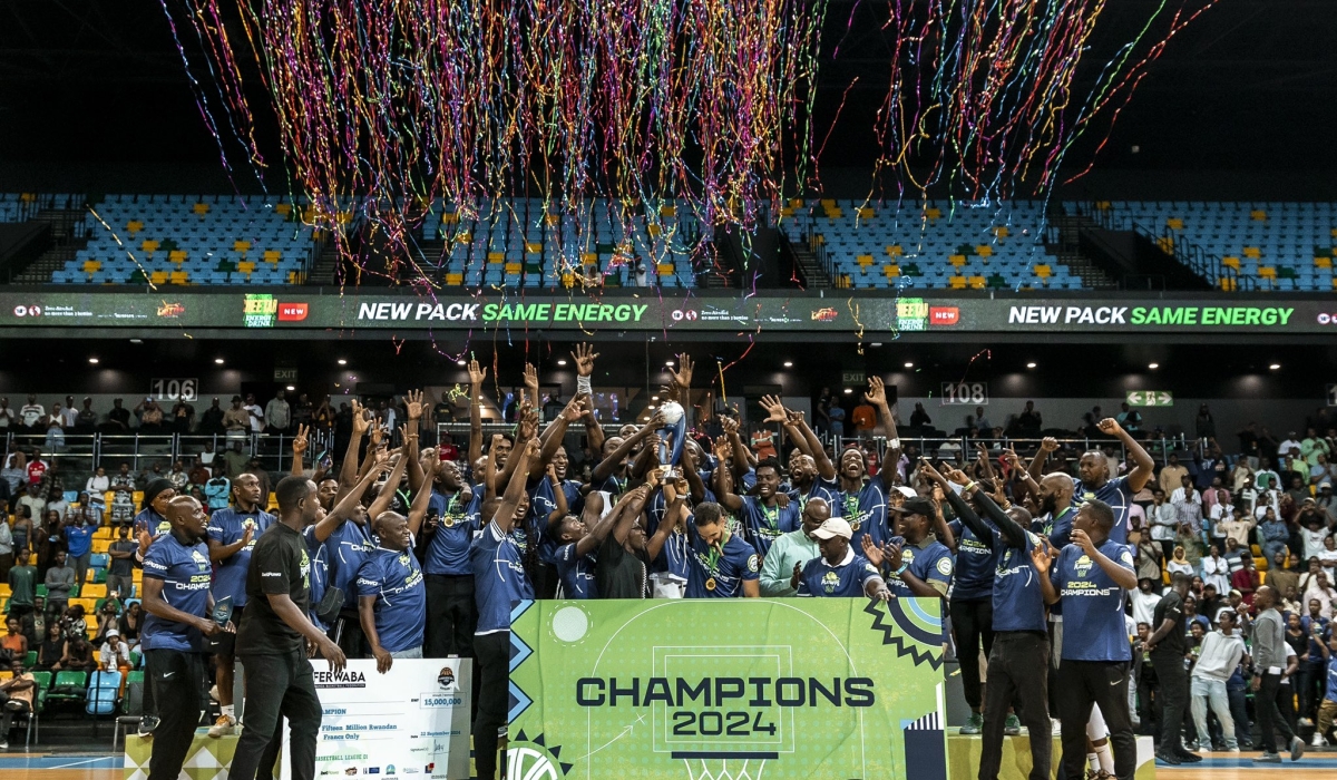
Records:
<instances>
[{"instance_id":1,"label":"man in blue T-shirt standing just left of the black-shirted man","mask_svg":"<svg viewBox=\"0 0 1337 780\"><path fill-rule=\"evenodd\" d=\"M209 518L209 559L218 567L214 571L214 601L230 599L233 622L237 623L246 609L246 570L250 567L255 539L274 524L274 515L261 507L263 498L259 478L249 472L241 474L233 480L233 504L215 510ZM219 642L214 656L218 705L222 712L209 728L211 737L230 735L237 728L233 705L233 673L237 669L233 660L234 644L235 637L229 634Z\"/></svg>"}]
</instances>

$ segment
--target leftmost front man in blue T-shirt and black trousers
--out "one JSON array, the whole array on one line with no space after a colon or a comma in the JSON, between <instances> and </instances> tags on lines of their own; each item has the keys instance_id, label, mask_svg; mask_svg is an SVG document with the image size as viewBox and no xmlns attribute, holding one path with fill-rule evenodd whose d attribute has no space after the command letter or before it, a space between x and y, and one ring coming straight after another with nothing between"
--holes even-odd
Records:
<instances>
[{"instance_id":1,"label":"leftmost front man in blue T-shirt and black trousers","mask_svg":"<svg viewBox=\"0 0 1337 780\"><path fill-rule=\"evenodd\" d=\"M162 718L152 730L148 777L176 780L199 724L205 637L231 631L233 623L219 626L210 614L214 597L209 593L205 507L180 496L162 508L170 530L144 554L143 605L148 617L139 642Z\"/></svg>"}]
</instances>

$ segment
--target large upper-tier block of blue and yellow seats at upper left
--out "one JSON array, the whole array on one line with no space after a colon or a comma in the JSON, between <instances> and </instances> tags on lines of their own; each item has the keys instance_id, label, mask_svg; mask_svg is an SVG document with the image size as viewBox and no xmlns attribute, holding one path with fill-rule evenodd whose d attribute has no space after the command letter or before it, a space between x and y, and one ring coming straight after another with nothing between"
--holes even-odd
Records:
<instances>
[{"instance_id":1,"label":"large upper-tier block of blue and yellow seats at upper left","mask_svg":"<svg viewBox=\"0 0 1337 780\"><path fill-rule=\"evenodd\" d=\"M278 197L106 195L84 217L88 246L51 281L301 282L313 229L299 207Z\"/></svg>"}]
</instances>

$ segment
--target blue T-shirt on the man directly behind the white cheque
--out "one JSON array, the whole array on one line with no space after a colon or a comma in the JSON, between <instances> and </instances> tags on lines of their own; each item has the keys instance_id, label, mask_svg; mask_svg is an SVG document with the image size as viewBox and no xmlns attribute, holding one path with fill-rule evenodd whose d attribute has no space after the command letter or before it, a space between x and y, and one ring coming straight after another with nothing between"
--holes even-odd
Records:
<instances>
[{"instance_id":1,"label":"blue T-shirt on the man directly behind the white cheque","mask_svg":"<svg viewBox=\"0 0 1337 780\"><path fill-rule=\"evenodd\" d=\"M374 597L376 634L390 653L422 646L427 586L413 557L413 545L402 553L376 547L357 570L357 597Z\"/></svg>"}]
</instances>

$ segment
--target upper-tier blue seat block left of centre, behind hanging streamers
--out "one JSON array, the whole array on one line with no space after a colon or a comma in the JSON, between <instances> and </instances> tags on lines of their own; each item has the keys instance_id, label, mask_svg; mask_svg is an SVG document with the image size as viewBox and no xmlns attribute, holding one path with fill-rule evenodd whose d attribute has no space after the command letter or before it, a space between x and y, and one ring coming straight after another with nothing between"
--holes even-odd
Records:
<instances>
[{"instance_id":1,"label":"upper-tier blue seat block left of centre, behind hanging streamers","mask_svg":"<svg viewBox=\"0 0 1337 780\"><path fill-rule=\"evenodd\" d=\"M473 215L437 201L422 226L424 242L444 245L440 274L455 286L571 288L602 274L604 285L690 288L699 235L683 202L620 206L603 198L579 215L544 209L539 198L484 199Z\"/></svg>"}]
</instances>

